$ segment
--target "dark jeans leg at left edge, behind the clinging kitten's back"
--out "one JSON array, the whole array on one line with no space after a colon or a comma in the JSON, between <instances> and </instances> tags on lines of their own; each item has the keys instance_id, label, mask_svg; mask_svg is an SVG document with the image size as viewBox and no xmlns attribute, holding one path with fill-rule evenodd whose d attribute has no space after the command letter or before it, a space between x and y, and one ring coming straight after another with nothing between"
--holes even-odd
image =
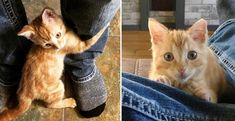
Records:
<instances>
[{"instance_id":1,"label":"dark jeans leg at left edge, behind the clinging kitten's back","mask_svg":"<svg viewBox=\"0 0 235 121\"><path fill-rule=\"evenodd\" d=\"M20 0L0 0L0 110L10 92L17 89L15 86L31 45L16 34L25 24L27 18Z\"/></svg>"}]
</instances>

